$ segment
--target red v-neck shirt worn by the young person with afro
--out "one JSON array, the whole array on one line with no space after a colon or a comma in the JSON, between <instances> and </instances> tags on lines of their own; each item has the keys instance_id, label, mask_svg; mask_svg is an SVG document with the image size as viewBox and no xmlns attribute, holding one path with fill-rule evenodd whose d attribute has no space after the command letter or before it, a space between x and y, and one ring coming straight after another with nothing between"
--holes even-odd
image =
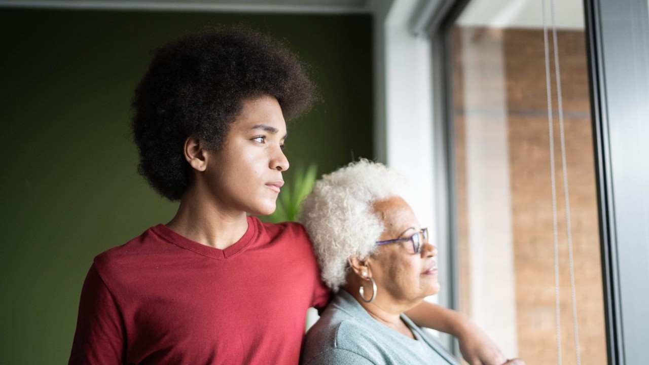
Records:
<instances>
[{"instance_id":1,"label":"red v-neck shirt worn by the young person with afro","mask_svg":"<svg viewBox=\"0 0 649 365\"><path fill-rule=\"evenodd\" d=\"M248 223L223 250L161 224L95 257L69 363L298 364L329 290L302 225Z\"/></svg>"}]
</instances>

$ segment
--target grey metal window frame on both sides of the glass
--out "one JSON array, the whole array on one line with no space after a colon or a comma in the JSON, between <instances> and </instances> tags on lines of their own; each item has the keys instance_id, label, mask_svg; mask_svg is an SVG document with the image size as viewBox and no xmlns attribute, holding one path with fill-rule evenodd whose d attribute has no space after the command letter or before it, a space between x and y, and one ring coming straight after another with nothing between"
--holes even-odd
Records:
<instances>
[{"instance_id":1,"label":"grey metal window frame on both sides of the glass","mask_svg":"<svg viewBox=\"0 0 649 365\"><path fill-rule=\"evenodd\" d=\"M458 308L457 202L454 191L454 145L450 28L470 0L439 0L418 7L411 31L426 34L432 49L434 96L434 173L437 240L448 242L451 278L446 305ZM646 0L584 0L585 36L596 192L609 364L641 364L649 358L649 12ZM421 14L428 9L428 14ZM423 19L423 20L422 20ZM630 37L630 34L632 35ZM631 39L630 39L631 38ZM631 62L629 61L631 60ZM631 67L629 64L631 63ZM635 98L624 98L632 88ZM448 96L448 97L447 97ZM626 112L632 108L635 114ZM620 141L624 143L620 143ZM635 152L635 153L634 153ZM637 183L637 182L640 183ZM618 194L615 194L615 193ZM629 193L630 192L630 193ZM626 193L626 194L624 194ZM644 205L643 205L644 204ZM622 217L636 217L630 221ZM644 243L644 244L643 244ZM624 316L626 314L626 316ZM625 320L626 318L626 320ZM447 345L459 355L456 341Z\"/></svg>"}]
</instances>

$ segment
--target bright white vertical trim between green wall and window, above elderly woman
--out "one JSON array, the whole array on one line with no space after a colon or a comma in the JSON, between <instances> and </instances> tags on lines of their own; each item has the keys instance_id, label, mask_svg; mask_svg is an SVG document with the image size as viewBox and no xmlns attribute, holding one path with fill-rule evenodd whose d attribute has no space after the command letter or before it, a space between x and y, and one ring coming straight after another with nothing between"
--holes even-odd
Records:
<instances>
[{"instance_id":1,"label":"bright white vertical trim between green wall and window, above elderly woman","mask_svg":"<svg viewBox=\"0 0 649 365\"><path fill-rule=\"evenodd\" d=\"M406 200L419 223L436 237L433 162L432 59L430 40L410 32L416 0L395 0L387 14L385 29L386 162L408 178ZM445 245L445 242L434 242ZM440 252L448 251L441 248ZM438 266L448 264L440 255ZM440 277L441 284L448 277ZM446 283L445 283L446 282ZM437 301L437 297L430 298Z\"/></svg>"}]
</instances>

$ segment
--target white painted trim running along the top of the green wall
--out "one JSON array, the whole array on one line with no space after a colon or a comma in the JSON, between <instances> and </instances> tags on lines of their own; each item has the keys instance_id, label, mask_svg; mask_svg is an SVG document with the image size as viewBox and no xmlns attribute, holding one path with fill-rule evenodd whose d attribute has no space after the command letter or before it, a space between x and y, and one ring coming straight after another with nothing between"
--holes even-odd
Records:
<instances>
[{"instance_id":1,"label":"white painted trim running along the top of the green wall","mask_svg":"<svg viewBox=\"0 0 649 365\"><path fill-rule=\"evenodd\" d=\"M67 10L147 10L281 14L372 14L372 9L369 6L167 3L160 1L0 0L0 8L2 7L48 8Z\"/></svg>"}]
</instances>

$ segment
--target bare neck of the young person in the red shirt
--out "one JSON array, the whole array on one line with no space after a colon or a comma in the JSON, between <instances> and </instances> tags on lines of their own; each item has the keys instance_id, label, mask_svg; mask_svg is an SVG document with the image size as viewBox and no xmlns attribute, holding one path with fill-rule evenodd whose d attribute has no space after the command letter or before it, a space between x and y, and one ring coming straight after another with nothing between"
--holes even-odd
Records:
<instances>
[{"instance_id":1,"label":"bare neck of the young person in the red shirt","mask_svg":"<svg viewBox=\"0 0 649 365\"><path fill-rule=\"evenodd\" d=\"M213 199L190 190L167 227L199 244L226 249L246 233L248 221L245 212L225 210Z\"/></svg>"}]
</instances>

